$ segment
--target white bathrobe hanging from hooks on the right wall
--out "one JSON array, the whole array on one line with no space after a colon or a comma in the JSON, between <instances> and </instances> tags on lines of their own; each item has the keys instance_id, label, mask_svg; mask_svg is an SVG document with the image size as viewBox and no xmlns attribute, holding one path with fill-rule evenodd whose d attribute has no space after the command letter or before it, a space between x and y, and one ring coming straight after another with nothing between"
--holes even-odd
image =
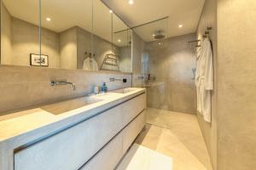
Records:
<instances>
[{"instance_id":1,"label":"white bathrobe hanging from hooks on the right wall","mask_svg":"<svg viewBox=\"0 0 256 170\"><path fill-rule=\"evenodd\" d=\"M211 91L213 90L212 44L204 39L196 59L195 85L197 92L197 111L206 122L212 122Z\"/></svg>"}]
</instances>

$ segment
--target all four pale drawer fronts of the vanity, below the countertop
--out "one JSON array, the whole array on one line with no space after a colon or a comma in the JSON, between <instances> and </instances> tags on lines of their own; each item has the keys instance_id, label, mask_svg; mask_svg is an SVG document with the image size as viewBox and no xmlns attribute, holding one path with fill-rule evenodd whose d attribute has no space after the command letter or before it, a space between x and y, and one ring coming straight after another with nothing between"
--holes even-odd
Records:
<instances>
[{"instance_id":1,"label":"all four pale drawer fronts of the vanity, below the countertop","mask_svg":"<svg viewBox=\"0 0 256 170\"><path fill-rule=\"evenodd\" d=\"M15 153L15 170L110 170L145 125L146 95L69 127Z\"/></svg>"}]
</instances>

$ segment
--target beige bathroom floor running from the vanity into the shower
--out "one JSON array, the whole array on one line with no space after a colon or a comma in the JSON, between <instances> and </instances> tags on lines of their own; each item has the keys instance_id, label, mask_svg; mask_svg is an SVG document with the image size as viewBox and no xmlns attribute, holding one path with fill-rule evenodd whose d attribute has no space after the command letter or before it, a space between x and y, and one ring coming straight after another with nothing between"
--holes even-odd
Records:
<instances>
[{"instance_id":1,"label":"beige bathroom floor running from the vanity into the shower","mask_svg":"<svg viewBox=\"0 0 256 170\"><path fill-rule=\"evenodd\" d=\"M148 124L136 143L170 158L171 167L160 170L212 170L196 116L150 108L146 115ZM137 170L134 165L145 164L145 159L152 161L152 156L143 156L137 154L137 151L139 150L129 151L122 161L125 166L121 163L123 167L120 170ZM161 164L160 161L157 162Z\"/></svg>"}]
</instances>

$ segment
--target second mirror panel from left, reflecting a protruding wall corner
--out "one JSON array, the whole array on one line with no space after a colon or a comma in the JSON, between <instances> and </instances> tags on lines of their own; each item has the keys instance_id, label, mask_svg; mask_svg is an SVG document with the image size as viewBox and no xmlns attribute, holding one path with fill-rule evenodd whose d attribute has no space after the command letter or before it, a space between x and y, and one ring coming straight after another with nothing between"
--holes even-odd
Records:
<instances>
[{"instance_id":1,"label":"second mirror panel from left, reflecting a protruding wall corner","mask_svg":"<svg viewBox=\"0 0 256 170\"><path fill-rule=\"evenodd\" d=\"M91 52L92 0L41 1L41 50L49 67L82 69L84 52Z\"/></svg>"}]
</instances>

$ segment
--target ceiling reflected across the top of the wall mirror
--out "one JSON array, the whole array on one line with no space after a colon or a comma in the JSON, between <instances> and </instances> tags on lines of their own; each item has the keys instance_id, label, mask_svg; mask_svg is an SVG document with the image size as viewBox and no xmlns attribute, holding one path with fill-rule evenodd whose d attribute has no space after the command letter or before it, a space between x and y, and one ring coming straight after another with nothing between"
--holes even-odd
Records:
<instances>
[{"instance_id":1,"label":"ceiling reflected across the top of the wall mirror","mask_svg":"<svg viewBox=\"0 0 256 170\"><path fill-rule=\"evenodd\" d=\"M101 0L44 0L41 2L41 22L44 28L61 32L73 26L79 26L108 42L112 41L112 14L109 13L109 8ZM3 3L15 18L39 25L38 0L3 0ZM51 21L47 21L47 17ZM113 32L125 29L127 29L125 23L113 14ZM122 41L118 42L119 39ZM125 46L126 40L126 32L113 36L113 43L118 46Z\"/></svg>"}]
</instances>

